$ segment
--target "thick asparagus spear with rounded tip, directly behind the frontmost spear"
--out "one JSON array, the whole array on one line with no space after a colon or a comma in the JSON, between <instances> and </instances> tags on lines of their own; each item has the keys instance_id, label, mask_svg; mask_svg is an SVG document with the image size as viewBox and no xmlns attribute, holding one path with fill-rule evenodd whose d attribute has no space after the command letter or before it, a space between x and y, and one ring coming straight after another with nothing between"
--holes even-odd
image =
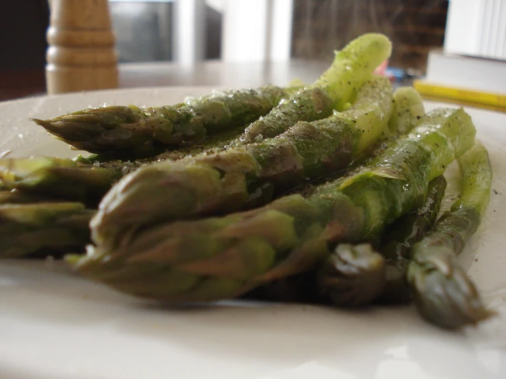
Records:
<instances>
[{"instance_id":1,"label":"thick asparagus spear with rounded tip, directly behind the frontmost spear","mask_svg":"<svg viewBox=\"0 0 506 379\"><path fill-rule=\"evenodd\" d=\"M140 168L101 202L93 239L114 245L132 225L263 205L305 180L345 168L388 129L391 109L390 82L372 77L351 109L325 120L299 122L244 148Z\"/></svg>"}]
</instances>

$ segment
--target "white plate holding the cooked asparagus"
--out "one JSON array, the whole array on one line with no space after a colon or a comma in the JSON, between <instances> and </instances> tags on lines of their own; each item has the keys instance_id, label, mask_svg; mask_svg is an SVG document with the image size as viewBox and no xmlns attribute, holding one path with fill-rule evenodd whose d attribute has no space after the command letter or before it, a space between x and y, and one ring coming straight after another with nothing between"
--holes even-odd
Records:
<instances>
[{"instance_id":1,"label":"white plate holding the cooked asparagus","mask_svg":"<svg viewBox=\"0 0 506 379\"><path fill-rule=\"evenodd\" d=\"M101 103L170 104L209 91L114 90L0 103L0 152L76 154L30 117ZM411 306L341 311L222 302L164 309L88 283L64 265L0 261L0 378L506 378L506 114L468 112L495 178L483 226L459 260L498 317L444 332Z\"/></svg>"}]
</instances>

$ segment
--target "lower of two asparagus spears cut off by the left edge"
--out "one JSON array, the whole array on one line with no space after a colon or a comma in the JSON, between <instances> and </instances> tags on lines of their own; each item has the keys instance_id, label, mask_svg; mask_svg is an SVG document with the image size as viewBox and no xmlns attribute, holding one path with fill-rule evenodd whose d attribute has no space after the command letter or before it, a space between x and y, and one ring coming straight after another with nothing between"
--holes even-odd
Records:
<instances>
[{"instance_id":1,"label":"lower of two asparagus spears cut off by the left edge","mask_svg":"<svg viewBox=\"0 0 506 379\"><path fill-rule=\"evenodd\" d=\"M82 250L94 211L75 202L0 205L0 257Z\"/></svg>"}]
</instances>

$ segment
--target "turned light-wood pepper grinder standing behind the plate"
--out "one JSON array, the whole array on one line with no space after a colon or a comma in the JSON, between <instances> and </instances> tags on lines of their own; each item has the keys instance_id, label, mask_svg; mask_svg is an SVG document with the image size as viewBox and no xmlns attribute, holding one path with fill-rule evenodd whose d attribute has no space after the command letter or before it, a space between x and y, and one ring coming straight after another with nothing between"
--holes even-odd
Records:
<instances>
[{"instance_id":1,"label":"turned light-wood pepper grinder standing behind the plate","mask_svg":"<svg viewBox=\"0 0 506 379\"><path fill-rule=\"evenodd\" d=\"M107 0L51 0L47 29L49 94L118 86Z\"/></svg>"}]
</instances>

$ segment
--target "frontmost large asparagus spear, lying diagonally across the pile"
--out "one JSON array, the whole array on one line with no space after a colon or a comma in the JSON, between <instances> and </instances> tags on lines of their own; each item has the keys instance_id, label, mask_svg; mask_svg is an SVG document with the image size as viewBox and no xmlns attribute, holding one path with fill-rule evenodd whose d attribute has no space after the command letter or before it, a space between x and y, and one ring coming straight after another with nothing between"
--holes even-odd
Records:
<instances>
[{"instance_id":1,"label":"frontmost large asparagus spear, lying diagonally across the pile","mask_svg":"<svg viewBox=\"0 0 506 379\"><path fill-rule=\"evenodd\" d=\"M312 270L328 257L329 246L366 241L420 206L429 181L474 138L462 109L439 109L362 170L320 186L309 198L295 194L221 218L132 228L115 248L90 246L86 257L67 261L81 274L145 298L238 296Z\"/></svg>"}]
</instances>

